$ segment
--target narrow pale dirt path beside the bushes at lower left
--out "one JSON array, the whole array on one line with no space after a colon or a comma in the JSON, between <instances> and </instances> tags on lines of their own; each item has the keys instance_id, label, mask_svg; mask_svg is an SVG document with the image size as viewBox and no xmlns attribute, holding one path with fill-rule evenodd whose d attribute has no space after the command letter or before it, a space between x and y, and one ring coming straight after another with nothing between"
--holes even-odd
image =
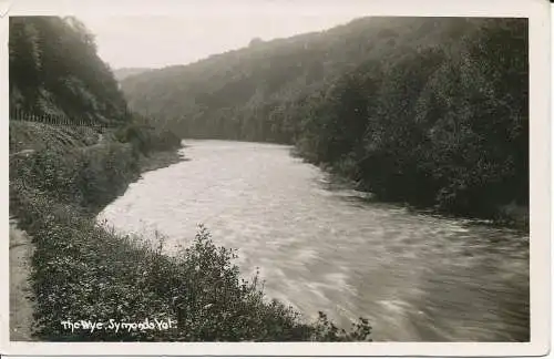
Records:
<instances>
[{"instance_id":1,"label":"narrow pale dirt path beside the bushes at lower left","mask_svg":"<svg viewBox=\"0 0 554 359\"><path fill-rule=\"evenodd\" d=\"M25 232L10 218L10 340L30 341L33 324L33 301L29 276L33 245Z\"/></svg>"}]
</instances>

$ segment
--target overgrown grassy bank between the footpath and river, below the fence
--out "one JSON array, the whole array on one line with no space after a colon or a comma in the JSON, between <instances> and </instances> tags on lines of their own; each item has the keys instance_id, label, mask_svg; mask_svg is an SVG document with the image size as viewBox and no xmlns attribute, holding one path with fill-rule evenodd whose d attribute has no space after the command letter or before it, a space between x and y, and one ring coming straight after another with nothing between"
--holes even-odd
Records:
<instances>
[{"instance_id":1,"label":"overgrown grassy bank between the footpath and river, below the fence","mask_svg":"<svg viewBox=\"0 0 554 359\"><path fill-rule=\"evenodd\" d=\"M189 247L168 257L162 254L163 238L152 246L96 224L100 208L140 175L145 162L136 153L136 144L110 141L10 157L10 213L35 246L32 287L40 340L369 340L366 320L347 332L325 315L307 322L269 301L257 278L240 278L235 252L215 246L205 228ZM150 157L151 165L160 161ZM103 327L71 327L81 320Z\"/></svg>"}]
</instances>

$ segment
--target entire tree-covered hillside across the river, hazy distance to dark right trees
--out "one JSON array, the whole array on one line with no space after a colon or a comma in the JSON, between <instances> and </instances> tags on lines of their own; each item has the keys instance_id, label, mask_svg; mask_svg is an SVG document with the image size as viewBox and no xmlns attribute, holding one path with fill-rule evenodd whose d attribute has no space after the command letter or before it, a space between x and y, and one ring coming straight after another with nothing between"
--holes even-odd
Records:
<instances>
[{"instance_id":1,"label":"entire tree-covered hillside across the river, hazy distance to dark right trees","mask_svg":"<svg viewBox=\"0 0 554 359\"><path fill-rule=\"evenodd\" d=\"M369 18L123 81L182 136L291 143L381 198L529 205L526 19Z\"/></svg>"}]
</instances>

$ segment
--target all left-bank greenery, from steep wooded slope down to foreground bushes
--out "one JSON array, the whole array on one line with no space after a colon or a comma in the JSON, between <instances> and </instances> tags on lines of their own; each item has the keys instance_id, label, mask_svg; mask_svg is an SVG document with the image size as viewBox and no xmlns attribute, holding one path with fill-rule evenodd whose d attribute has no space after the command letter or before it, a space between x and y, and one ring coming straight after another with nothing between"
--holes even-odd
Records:
<instances>
[{"instance_id":1,"label":"all left-bank greenery, from steep wooded slope down to foreground bushes","mask_svg":"<svg viewBox=\"0 0 554 359\"><path fill-rule=\"evenodd\" d=\"M179 147L181 139L126 112L111 71L79 21L10 21L12 114L113 127L99 133L94 126L10 122L10 214L35 246L31 279L39 339L370 340L365 319L347 332L322 314L310 324L268 301L257 277L240 278L235 252L216 247L204 228L181 254L167 256L163 238L153 246L96 224L98 212L137 178L143 156ZM64 326L81 320L104 328ZM156 320L171 320L172 327L161 330ZM110 328L122 322L144 327Z\"/></svg>"}]
</instances>

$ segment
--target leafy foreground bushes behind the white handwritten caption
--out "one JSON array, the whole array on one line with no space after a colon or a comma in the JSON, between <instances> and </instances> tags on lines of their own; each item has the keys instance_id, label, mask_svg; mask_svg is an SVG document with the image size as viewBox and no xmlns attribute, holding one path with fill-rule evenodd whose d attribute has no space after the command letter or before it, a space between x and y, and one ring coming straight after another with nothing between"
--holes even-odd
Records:
<instances>
[{"instance_id":1,"label":"leafy foreground bushes behind the white handwritten caption","mask_svg":"<svg viewBox=\"0 0 554 359\"><path fill-rule=\"evenodd\" d=\"M306 324L276 300L267 302L257 277L240 278L236 253L216 247L201 227L178 255L140 238L116 235L71 205L19 193L18 215L33 237L37 335L53 341L287 341L368 340L361 320L351 332L325 315ZM78 214L78 215L75 215ZM71 331L63 320L174 320L168 330Z\"/></svg>"}]
</instances>

